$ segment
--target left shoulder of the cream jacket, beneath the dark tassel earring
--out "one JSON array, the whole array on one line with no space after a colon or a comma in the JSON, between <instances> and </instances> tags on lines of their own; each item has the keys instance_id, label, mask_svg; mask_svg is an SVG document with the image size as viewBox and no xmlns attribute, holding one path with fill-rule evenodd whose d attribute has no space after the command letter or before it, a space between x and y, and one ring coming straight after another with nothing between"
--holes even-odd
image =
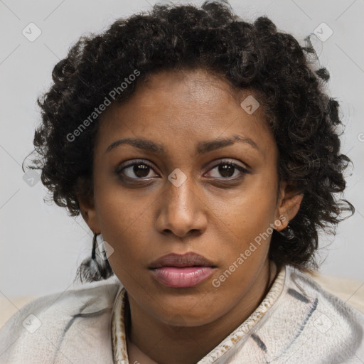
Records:
<instances>
[{"instance_id":1,"label":"left shoulder of the cream jacket, beneath the dark tassel earring","mask_svg":"<svg viewBox=\"0 0 364 364\"><path fill-rule=\"evenodd\" d=\"M97 355L112 363L109 319L121 288L112 276L29 302L0 330L0 363L92 363Z\"/></svg>"}]
</instances>

